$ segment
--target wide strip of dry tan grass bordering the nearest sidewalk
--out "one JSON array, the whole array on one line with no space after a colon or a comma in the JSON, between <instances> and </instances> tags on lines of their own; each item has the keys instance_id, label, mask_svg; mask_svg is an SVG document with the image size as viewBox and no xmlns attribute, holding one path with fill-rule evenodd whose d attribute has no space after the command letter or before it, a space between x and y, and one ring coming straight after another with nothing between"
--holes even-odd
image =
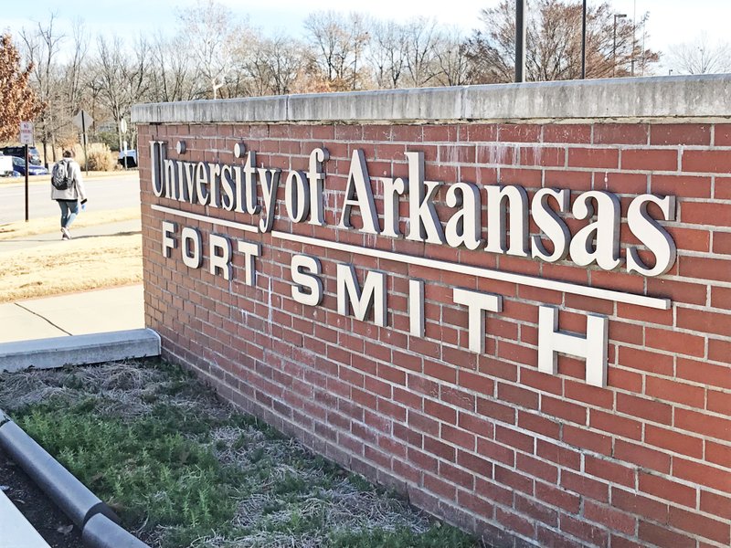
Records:
<instances>
[{"instance_id":1,"label":"wide strip of dry tan grass bordering the nearest sidewalk","mask_svg":"<svg viewBox=\"0 0 731 548\"><path fill-rule=\"evenodd\" d=\"M142 237L57 241L0 253L0 264L0 302L141 283Z\"/></svg>"}]
</instances>

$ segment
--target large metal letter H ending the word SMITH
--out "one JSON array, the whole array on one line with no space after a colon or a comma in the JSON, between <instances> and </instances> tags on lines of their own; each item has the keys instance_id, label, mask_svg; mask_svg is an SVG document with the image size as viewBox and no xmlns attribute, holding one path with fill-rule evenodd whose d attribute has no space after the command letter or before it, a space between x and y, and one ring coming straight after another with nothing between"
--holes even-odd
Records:
<instances>
[{"instance_id":1,"label":"large metal letter H ending the word SMITH","mask_svg":"<svg viewBox=\"0 0 731 548\"><path fill-rule=\"evenodd\" d=\"M538 370L556 374L558 353L567 353L587 360L588 385L607 385L607 353L609 320L599 314L587 315L587 336L558 331L558 309L538 307Z\"/></svg>"}]
</instances>

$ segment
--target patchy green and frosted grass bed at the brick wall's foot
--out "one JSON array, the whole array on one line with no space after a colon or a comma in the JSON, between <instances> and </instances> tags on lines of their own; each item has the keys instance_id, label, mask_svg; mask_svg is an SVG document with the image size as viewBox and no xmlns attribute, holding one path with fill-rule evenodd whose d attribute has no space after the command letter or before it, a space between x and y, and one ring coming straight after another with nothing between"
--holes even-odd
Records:
<instances>
[{"instance_id":1,"label":"patchy green and frosted grass bed at the brick wall's foot","mask_svg":"<svg viewBox=\"0 0 731 548\"><path fill-rule=\"evenodd\" d=\"M478 545L170 364L0 374L0 408L154 547Z\"/></svg>"}]
</instances>

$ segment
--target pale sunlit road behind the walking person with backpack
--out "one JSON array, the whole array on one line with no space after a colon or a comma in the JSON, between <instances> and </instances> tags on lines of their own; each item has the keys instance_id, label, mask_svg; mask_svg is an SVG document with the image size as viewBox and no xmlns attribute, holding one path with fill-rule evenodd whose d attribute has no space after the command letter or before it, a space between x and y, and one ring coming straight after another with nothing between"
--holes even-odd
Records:
<instances>
[{"instance_id":1,"label":"pale sunlit road behind the walking person with backpack","mask_svg":"<svg viewBox=\"0 0 731 548\"><path fill-rule=\"evenodd\" d=\"M84 180L89 202L87 211L104 211L140 205L140 180L137 172L90 177ZM26 218L26 185L0 182L0 225ZM38 219L59 215L58 204L51 200L50 175L46 182L28 185L28 216Z\"/></svg>"}]
</instances>

